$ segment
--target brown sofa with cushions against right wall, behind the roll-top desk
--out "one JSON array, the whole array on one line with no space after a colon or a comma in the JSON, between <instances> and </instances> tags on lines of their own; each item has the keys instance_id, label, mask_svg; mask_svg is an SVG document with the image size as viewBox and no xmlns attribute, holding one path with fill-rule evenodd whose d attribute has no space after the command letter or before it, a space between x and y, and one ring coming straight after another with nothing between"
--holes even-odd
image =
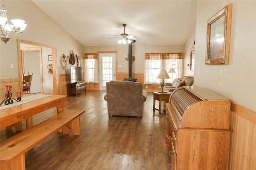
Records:
<instances>
[{"instance_id":1,"label":"brown sofa with cushions against right wall, behind the roll-top desk","mask_svg":"<svg viewBox=\"0 0 256 170\"><path fill-rule=\"evenodd\" d=\"M192 86L194 82L194 77L182 76L181 78L175 78L172 83L165 83L164 91L173 92L176 88L182 86Z\"/></svg>"}]
</instances>

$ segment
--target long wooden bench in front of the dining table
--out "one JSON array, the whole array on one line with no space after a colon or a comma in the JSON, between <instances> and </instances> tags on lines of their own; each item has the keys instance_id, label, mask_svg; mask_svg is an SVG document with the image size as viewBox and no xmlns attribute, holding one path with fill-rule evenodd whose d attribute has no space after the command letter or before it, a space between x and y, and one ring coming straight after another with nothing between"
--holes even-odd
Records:
<instances>
[{"instance_id":1,"label":"long wooden bench in front of the dining table","mask_svg":"<svg viewBox=\"0 0 256 170\"><path fill-rule=\"evenodd\" d=\"M25 170L25 153L62 128L80 135L80 115L84 110L66 109L0 143L0 169Z\"/></svg>"}]
</instances>

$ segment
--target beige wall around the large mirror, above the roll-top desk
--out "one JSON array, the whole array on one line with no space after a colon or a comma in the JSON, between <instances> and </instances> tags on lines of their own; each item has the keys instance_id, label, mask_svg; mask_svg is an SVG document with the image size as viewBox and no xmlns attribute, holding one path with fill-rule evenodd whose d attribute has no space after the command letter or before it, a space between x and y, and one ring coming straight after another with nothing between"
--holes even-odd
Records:
<instances>
[{"instance_id":1,"label":"beige wall around the large mirror, above the roll-top desk","mask_svg":"<svg viewBox=\"0 0 256 170\"><path fill-rule=\"evenodd\" d=\"M206 65L207 21L232 3L228 65ZM198 1L194 84L256 111L256 1Z\"/></svg>"}]
</instances>

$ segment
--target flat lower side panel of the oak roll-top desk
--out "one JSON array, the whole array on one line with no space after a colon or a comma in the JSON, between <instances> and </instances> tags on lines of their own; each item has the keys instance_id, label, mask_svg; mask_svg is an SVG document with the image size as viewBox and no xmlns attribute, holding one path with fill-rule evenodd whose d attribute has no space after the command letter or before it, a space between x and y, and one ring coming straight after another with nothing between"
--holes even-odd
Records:
<instances>
[{"instance_id":1,"label":"flat lower side panel of the oak roll-top desk","mask_svg":"<svg viewBox=\"0 0 256 170\"><path fill-rule=\"evenodd\" d=\"M228 170L230 131L177 131L177 170Z\"/></svg>"}]
</instances>

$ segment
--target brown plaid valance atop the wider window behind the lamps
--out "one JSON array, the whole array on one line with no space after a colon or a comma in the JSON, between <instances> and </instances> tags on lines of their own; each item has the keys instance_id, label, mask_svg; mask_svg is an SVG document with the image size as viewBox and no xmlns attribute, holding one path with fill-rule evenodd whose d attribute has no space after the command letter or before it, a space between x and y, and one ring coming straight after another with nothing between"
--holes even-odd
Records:
<instances>
[{"instance_id":1,"label":"brown plaid valance atop the wider window behind the lamps","mask_svg":"<svg viewBox=\"0 0 256 170\"><path fill-rule=\"evenodd\" d=\"M182 59L182 53L146 53L145 60Z\"/></svg>"}]
</instances>

